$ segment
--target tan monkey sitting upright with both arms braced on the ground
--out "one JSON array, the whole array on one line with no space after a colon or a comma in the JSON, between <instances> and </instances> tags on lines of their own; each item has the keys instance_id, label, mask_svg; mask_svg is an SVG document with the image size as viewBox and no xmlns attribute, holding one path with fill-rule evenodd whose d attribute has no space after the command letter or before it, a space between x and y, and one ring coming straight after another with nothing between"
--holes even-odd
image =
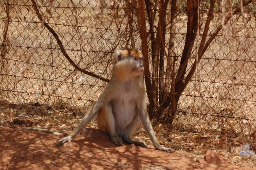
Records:
<instances>
[{"instance_id":1,"label":"tan monkey sitting upright with both arms braced on the ground","mask_svg":"<svg viewBox=\"0 0 256 170\"><path fill-rule=\"evenodd\" d=\"M174 152L171 148L161 146L154 134L147 111L146 91L144 87L143 55L137 49L126 48L116 51L112 77L100 97L90 107L78 126L66 137L60 139L56 146L70 143L95 115L98 128L108 134L117 146L124 142L147 147L143 141L131 139L142 123L157 150Z\"/></svg>"}]
</instances>

